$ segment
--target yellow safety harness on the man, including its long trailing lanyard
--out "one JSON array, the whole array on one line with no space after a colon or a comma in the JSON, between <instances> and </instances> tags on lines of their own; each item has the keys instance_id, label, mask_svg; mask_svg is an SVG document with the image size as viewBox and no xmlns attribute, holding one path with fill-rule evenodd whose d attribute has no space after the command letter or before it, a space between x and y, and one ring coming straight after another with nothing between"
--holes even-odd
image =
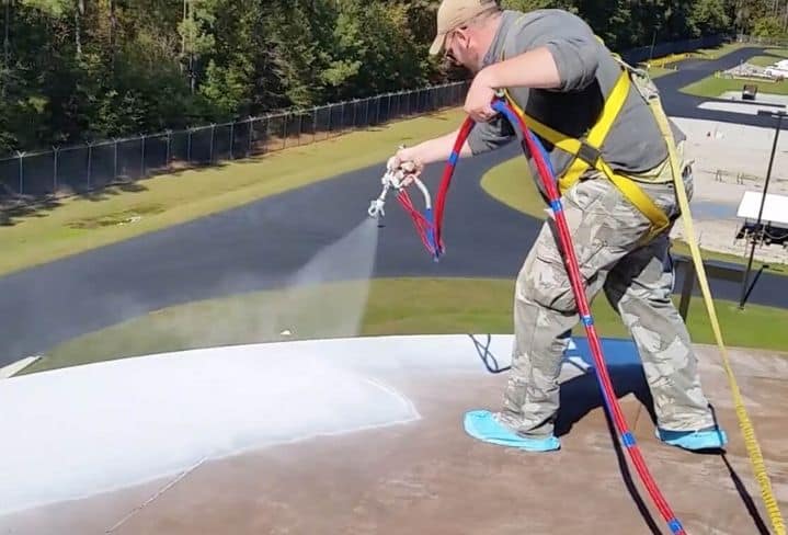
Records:
<instances>
[{"instance_id":1,"label":"yellow safety harness on the man, including its long trailing lanyard","mask_svg":"<svg viewBox=\"0 0 788 535\"><path fill-rule=\"evenodd\" d=\"M608 166L607 162L605 162L604 159L601 157L602 145L604 144L607 134L609 133L613 124L615 123L618 113L621 111L621 107L624 107L624 102L629 94L629 90L632 84L631 76L638 75L643 77L644 79L648 79L648 75L646 72L639 71L633 67L627 65L624 60L621 60L618 55L613 54L613 57L621 66L621 75L618 78L613 90L610 91L610 94L605 100L605 104L603 106L599 118L597 119L596 124L594 124L593 127L589 130L587 135L585 136L585 139L582 140L575 139L571 136L567 136L545 124L539 123L533 117L527 116L525 112L517 105L517 103L514 101L507 90L504 90L503 93L509 104L518 114L523 116L528 126L538 136L546 139L555 147L566 152L569 152L573 157L570 164L567 166L566 171L558 177L559 192L561 194L563 194L563 192L574 185L586 170L589 170L590 168L596 169L597 171L602 172L613 184L615 184L618 190L624 194L624 196L630 203L632 203L632 205L635 205L649 219L649 221L651 221L651 230L646 238L650 239L651 237L667 228L667 226L670 225L667 216L651 201L651 198L646 193L643 193L643 191L638 186L635 180L630 179L629 177L626 177L625 174L614 171L610 166ZM503 54L501 55L501 59L503 59ZM695 238L695 231L693 229L689 201L687 198L687 193L684 187L682 170L678 164L678 156L676 155L676 145L673 138L673 134L671 132L670 124L667 122L667 116L662 109L659 93L655 89L652 91L652 94L648 96L643 95L643 98L648 102L649 107L651 109L653 116L656 119L660 132L667 146L671 173L678 196L678 205L682 213L682 219L684 220L686 238L689 242L693 263L695 264L698 282L700 284L704 300L706 303L706 309L711 320L711 328L715 333L715 339L722 354L722 364L726 371L726 375L728 376L728 383L733 396L733 403L735 407L736 418L739 420L739 428L741 429L742 435L744 437L744 445L746 447L747 455L750 457L750 462L755 474L755 478L761 487L761 496L764 500L764 504L766 506L766 511L772 522L774 532L776 535L786 535L785 521L783 520L783 515L777 504L777 500L774 496L774 491L772 490L772 485L769 482L769 477L766 471L763 454L761 453L761 447L758 445L757 437L755 436L755 430L753 429L753 424L750 421L750 417L747 416L747 411L744 407L744 400L742 398L739 385L733 374L730 357L728 356L728 350L726 349L724 342L722 341L722 333L720 330L719 321L717 319L717 312L715 309L713 300L711 298L711 292L709 289L703 259L700 257L700 249L698 248L697 240Z\"/></svg>"}]
</instances>

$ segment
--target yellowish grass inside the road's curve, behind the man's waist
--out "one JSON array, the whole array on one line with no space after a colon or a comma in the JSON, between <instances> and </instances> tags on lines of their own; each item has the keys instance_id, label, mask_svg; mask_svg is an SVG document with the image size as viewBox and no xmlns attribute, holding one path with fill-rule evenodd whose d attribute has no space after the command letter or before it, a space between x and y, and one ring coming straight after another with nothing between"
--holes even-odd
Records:
<instances>
[{"instance_id":1,"label":"yellowish grass inside the road's curve, behind the man's waist","mask_svg":"<svg viewBox=\"0 0 788 535\"><path fill-rule=\"evenodd\" d=\"M493 198L513 209L538 219L545 219L547 216L545 204L530 178L525 158L516 157L490 169L482 177L481 186ZM689 246L682 240L673 240L673 252L685 257L690 255ZM718 260L736 264L746 264L747 262L747 259L742 257L708 250L703 250L703 257L705 260ZM763 262L753 261L754 269L757 270L762 265ZM764 271L788 275L788 265L773 262Z\"/></svg>"}]
</instances>

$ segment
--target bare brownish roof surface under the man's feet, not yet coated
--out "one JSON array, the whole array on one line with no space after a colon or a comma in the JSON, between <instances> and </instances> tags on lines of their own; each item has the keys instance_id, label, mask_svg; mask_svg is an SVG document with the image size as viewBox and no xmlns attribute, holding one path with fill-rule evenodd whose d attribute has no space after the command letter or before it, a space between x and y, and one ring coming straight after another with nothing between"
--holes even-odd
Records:
<instances>
[{"instance_id":1,"label":"bare brownish roof surface under the man's feet, not yet coated","mask_svg":"<svg viewBox=\"0 0 788 535\"><path fill-rule=\"evenodd\" d=\"M719 352L698 351L705 387L731 440L726 453L659 444L637 366L610 372L625 417L687 533L768 533ZM788 360L769 352L731 355L785 513ZM670 533L615 447L591 373L564 366L560 452L523 453L466 435L462 413L496 409L505 377L386 374L420 420L204 463L176 478L0 519L0 533Z\"/></svg>"}]
</instances>

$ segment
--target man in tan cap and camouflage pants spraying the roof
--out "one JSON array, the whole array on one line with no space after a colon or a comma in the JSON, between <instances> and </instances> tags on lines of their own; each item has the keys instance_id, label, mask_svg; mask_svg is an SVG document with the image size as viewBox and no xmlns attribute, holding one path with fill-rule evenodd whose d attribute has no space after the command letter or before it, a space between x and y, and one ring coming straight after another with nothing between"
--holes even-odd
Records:
<instances>
[{"instance_id":1,"label":"man in tan cap and camouflage pants spraying the roof","mask_svg":"<svg viewBox=\"0 0 788 535\"><path fill-rule=\"evenodd\" d=\"M621 70L621 64L592 30L562 10L519 13L504 11L492 0L444 0L430 52L441 50L475 73L465 111L478 124L460 157L517 139L518 133L491 107L499 90L506 90L510 103L532 119L583 138L597 124L606 100L614 99L617 88L620 107L602 136L604 143L596 153L593 144L581 151L581 158L592 163L601 157L609 174L599 171L602 163L581 167L582 172L575 173L574 182L562 192L586 295L591 300L604 289L629 329L654 399L658 437L688 449L722 447L724 432L712 419L689 335L670 298L669 232L679 213L665 139L642 88L629 84L629 72ZM681 133L674 130L676 135ZM425 164L445 161L456 136L455 132L402 148L389 166L412 170L415 177ZM564 175L572 155L549 143L545 146L557 177ZM640 201L632 201L637 195L632 196L630 186L621 189L609 179L620 175L625 179L618 180L628 184L635 181ZM683 179L689 195L687 166ZM538 180L537 184L541 187ZM651 207L644 208L649 203ZM654 236L651 231L660 217L664 218L663 228ZM549 219L515 288L515 344L503 407L494 413L468 412L465 429L493 444L525 451L558 449L553 424L561 356L569 342L564 333L580 318L557 229Z\"/></svg>"}]
</instances>

